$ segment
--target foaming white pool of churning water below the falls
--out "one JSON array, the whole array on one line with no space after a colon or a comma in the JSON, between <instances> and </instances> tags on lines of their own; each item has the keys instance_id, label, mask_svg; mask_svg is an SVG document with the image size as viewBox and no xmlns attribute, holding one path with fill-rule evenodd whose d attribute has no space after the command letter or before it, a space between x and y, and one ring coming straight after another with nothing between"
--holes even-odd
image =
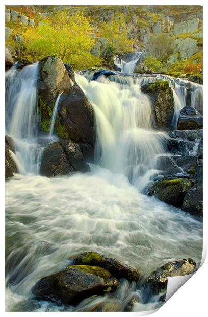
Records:
<instances>
[{"instance_id":1,"label":"foaming white pool of churning water below the falls","mask_svg":"<svg viewBox=\"0 0 208 317\"><path fill-rule=\"evenodd\" d=\"M97 166L91 170L54 179L16 175L6 184L7 283L13 284L8 292L17 301L21 297L21 304L27 299L24 310L34 304L28 300L33 285L83 251L116 257L140 269L143 276L175 259L191 257L200 263L199 221L139 193L122 174ZM133 291L134 285L128 295ZM118 301L122 302L122 294ZM55 304L37 303L41 311L48 305L55 310ZM8 301L7 310L15 305L14 300ZM85 310L87 303L82 305Z\"/></svg>"}]
</instances>

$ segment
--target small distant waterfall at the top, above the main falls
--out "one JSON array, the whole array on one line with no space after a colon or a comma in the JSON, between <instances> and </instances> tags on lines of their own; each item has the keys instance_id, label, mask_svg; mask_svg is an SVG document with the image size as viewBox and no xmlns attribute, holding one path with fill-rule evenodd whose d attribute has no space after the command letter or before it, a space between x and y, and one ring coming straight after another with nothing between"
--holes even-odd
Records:
<instances>
[{"instance_id":1,"label":"small distant waterfall at the top, above the main falls","mask_svg":"<svg viewBox=\"0 0 208 317\"><path fill-rule=\"evenodd\" d=\"M132 55L132 60L129 62L124 61L119 56L114 57L114 65L121 69L122 73L133 73L136 65L139 63L141 58L144 56L145 52L134 53Z\"/></svg>"}]
</instances>

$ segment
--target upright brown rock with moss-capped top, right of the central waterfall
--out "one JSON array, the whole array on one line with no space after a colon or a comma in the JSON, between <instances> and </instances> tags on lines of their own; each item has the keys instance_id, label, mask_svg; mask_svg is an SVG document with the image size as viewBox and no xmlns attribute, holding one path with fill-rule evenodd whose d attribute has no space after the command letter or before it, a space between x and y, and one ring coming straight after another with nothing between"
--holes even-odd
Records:
<instances>
[{"instance_id":1,"label":"upright brown rock with moss-capped top, right of the central waterfall","mask_svg":"<svg viewBox=\"0 0 208 317\"><path fill-rule=\"evenodd\" d=\"M152 84L143 85L141 89L152 100L157 126L170 127L174 115L174 99L169 82L160 80Z\"/></svg>"}]
</instances>

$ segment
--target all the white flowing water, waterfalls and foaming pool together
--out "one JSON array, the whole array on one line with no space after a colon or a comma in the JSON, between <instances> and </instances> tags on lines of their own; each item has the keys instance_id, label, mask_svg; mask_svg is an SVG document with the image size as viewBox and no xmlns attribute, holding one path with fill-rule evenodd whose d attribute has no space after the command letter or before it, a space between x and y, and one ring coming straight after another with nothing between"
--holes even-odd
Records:
<instances>
[{"instance_id":1,"label":"all the white flowing water, waterfalls and foaming pool together","mask_svg":"<svg viewBox=\"0 0 208 317\"><path fill-rule=\"evenodd\" d=\"M117 258L139 269L143 279L168 261L190 257L199 266L200 219L142 193L160 173L157 158L167 153L168 137L154 130L151 100L141 86L169 80L181 108L181 82L164 75L102 75L90 80L91 73L76 74L94 109L95 164L88 173L47 178L38 175L43 145L38 134L37 74L37 64L21 71L14 65L6 73L6 132L14 139L17 162L23 167L6 182L6 310L88 311L106 301L116 301L122 310L134 293L141 301L133 310L159 307L157 298L145 303L139 286L127 281L114 295L68 307L37 301L31 289L84 251ZM175 107L177 111L179 106Z\"/></svg>"}]
</instances>

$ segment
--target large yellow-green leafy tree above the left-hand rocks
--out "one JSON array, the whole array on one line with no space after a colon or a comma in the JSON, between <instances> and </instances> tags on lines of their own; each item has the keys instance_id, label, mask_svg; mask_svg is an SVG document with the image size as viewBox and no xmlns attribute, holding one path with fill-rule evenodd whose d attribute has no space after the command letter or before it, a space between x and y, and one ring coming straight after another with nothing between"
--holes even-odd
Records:
<instances>
[{"instance_id":1,"label":"large yellow-green leafy tree above the left-hand rocks","mask_svg":"<svg viewBox=\"0 0 208 317\"><path fill-rule=\"evenodd\" d=\"M92 28L89 18L81 12L75 15L69 11L56 12L35 29L27 30L24 37L25 49L35 59L58 55L77 69L101 63L100 58L90 53L94 44Z\"/></svg>"}]
</instances>

